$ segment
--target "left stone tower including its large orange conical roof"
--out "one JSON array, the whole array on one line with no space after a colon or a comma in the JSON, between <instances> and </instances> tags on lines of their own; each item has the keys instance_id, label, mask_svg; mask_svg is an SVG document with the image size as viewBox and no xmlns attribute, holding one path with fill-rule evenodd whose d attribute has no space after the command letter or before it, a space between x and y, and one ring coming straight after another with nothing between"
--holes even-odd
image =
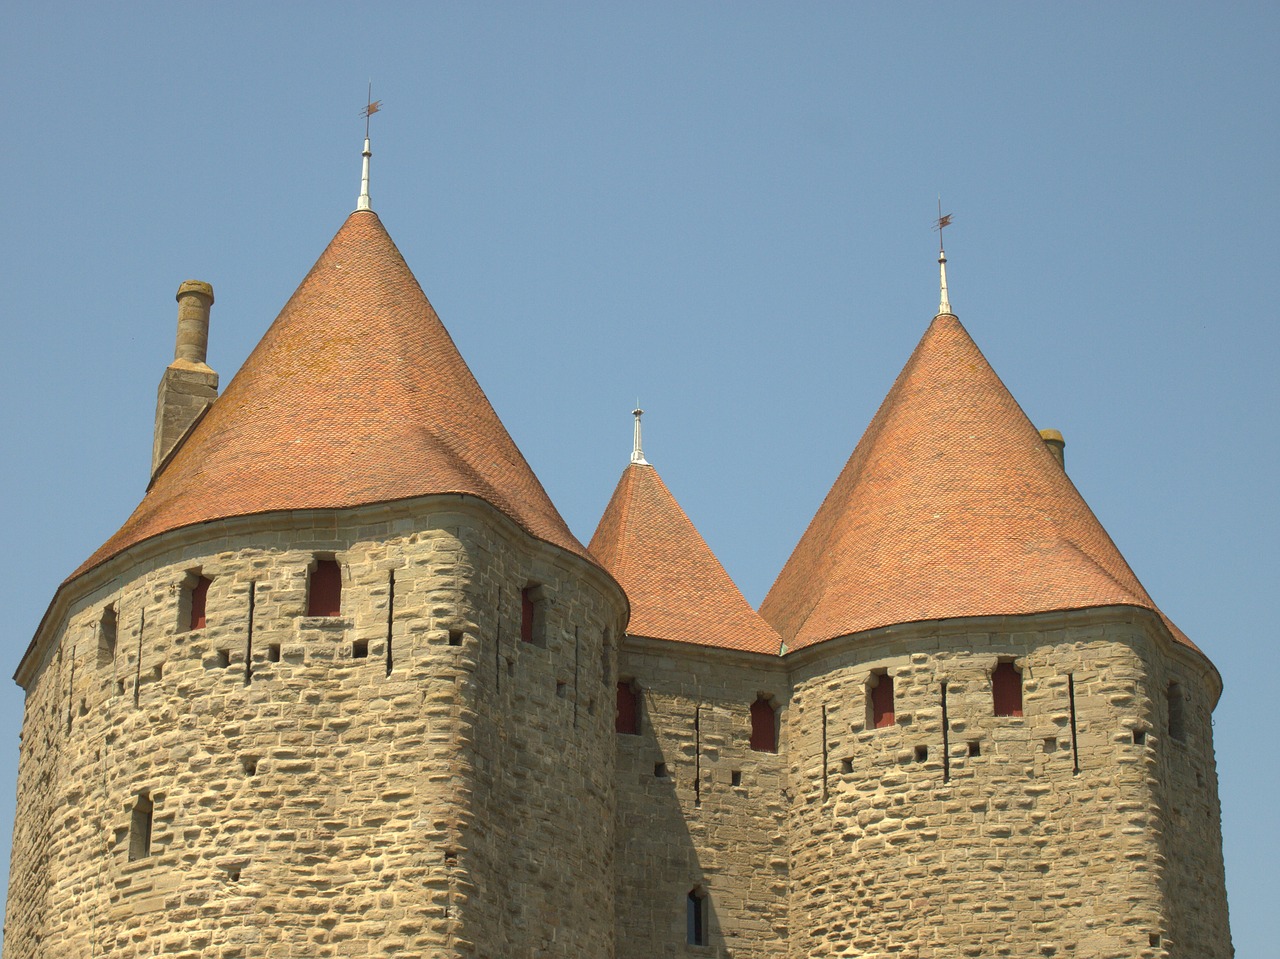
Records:
<instances>
[{"instance_id":1,"label":"left stone tower including its large orange conical roof","mask_svg":"<svg viewBox=\"0 0 1280 959\"><path fill-rule=\"evenodd\" d=\"M609 955L626 598L376 214L183 431L18 667L5 958Z\"/></svg>"}]
</instances>

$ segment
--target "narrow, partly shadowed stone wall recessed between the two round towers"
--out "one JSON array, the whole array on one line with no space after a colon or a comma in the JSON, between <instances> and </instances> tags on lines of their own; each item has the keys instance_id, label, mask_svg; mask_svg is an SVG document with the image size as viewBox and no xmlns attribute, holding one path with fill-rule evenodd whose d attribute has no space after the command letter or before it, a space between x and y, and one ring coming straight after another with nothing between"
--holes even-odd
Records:
<instances>
[{"instance_id":1,"label":"narrow, partly shadowed stone wall recessed between the two round towers","mask_svg":"<svg viewBox=\"0 0 1280 959\"><path fill-rule=\"evenodd\" d=\"M618 959L786 956L786 761L749 745L758 694L786 714L781 661L628 638L618 676L643 703L640 734L616 736ZM705 946L687 945L692 890Z\"/></svg>"}]
</instances>

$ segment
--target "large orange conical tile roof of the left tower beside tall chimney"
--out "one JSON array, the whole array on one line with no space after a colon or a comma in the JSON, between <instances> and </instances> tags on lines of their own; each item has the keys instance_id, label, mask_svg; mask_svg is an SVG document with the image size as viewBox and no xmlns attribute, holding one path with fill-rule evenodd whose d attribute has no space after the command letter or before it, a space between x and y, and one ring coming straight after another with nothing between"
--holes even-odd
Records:
<instances>
[{"instance_id":1,"label":"large orange conical tile roof of the left tower beside tall chimney","mask_svg":"<svg viewBox=\"0 0 1280 959\"><path fill-rule=\"evenodd\" d=\"M378 215L347 218L124 526L73 577L229 516L477 497L585 556Z\"/></svg>"}]
</instances>

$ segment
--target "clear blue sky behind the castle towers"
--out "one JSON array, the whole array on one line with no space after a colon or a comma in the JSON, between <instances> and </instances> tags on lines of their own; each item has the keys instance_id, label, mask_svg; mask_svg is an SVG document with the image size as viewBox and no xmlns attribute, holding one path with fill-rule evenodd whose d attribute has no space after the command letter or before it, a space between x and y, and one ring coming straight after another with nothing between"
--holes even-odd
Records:
<instances>
[{"instance_id":1,"label":"clear blue sky behind the castle towers","mask_svg":"<svg viewBox=\"0 0 1280 959\"><path fill-rule=\"evenodd\" d=\"M9 670L136 506L178 284L227 383L374 209L580 539L631 444L758 604L951 303L1213 659L1231 924L1280 924L1275 4L10 4ZM9 835L22 693L0 690ZM5 854L8 844L3 844ZM6 872L0 863L0 872Z\"/></svg>"}]
</instances>

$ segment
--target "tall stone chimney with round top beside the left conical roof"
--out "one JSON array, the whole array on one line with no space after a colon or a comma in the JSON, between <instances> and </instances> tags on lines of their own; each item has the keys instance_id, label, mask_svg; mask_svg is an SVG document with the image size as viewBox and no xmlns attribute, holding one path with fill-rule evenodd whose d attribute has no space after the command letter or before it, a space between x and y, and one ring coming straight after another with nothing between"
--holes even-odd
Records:
<instances>
[{"instance_id":1,"label":"tall stone chimney with round top beside the left conical roof","mask_svg":"<svg viewBox=\"0 0 1280 959\"><path fill-rule=\"evenodd\" d=\"M214 288L198 279L178 287L178 343L173 362L160 378L156 433L151 446L151 479L156 478L191 428L218 398L218 374L205 364L209 347L209 309Z\"/></svg>"}]
</instances>

